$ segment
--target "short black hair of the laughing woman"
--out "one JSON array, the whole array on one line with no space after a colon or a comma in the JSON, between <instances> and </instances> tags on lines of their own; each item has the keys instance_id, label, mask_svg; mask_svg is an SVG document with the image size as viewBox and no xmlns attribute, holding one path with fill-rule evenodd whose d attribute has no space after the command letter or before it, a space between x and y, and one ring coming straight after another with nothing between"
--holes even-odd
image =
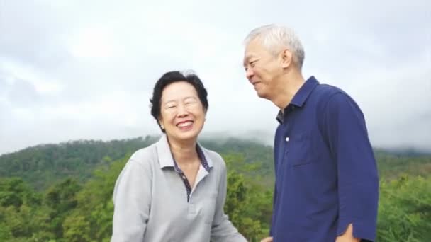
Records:
<instances>
[{"instance_id":1,"label":"short black hair of the laughing woman","mask_svg":"<svg viewBox=\"0 0 431 242\"><path fill-rule=\"evenodd\" d=\"M168 71L163 74L162 77L157 80L154 88L152 89L152 98L150 99L151 103L151 115L157 121L157 124L160 127L159 117L160 117L160 109L161 109L161 100L162 100L162 92L163 89L171 83L177 81L186 81L190 83L196 89L198 93L199 100L203 105L203 110L206 112L208 110L208 93L206 92L205 87L201 79L196 74L182 74L180 71ZM162 127L160 127L162 129ZM164 129L162 129L164 132Z\"/></svg>"}]
</instances>

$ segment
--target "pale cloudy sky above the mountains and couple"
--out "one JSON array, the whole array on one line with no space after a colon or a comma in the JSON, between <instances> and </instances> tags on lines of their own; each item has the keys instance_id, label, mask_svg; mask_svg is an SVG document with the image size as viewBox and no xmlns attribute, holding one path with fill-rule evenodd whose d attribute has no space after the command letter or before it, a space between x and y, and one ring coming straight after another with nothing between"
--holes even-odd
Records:
<instances>
[{"instance_id":1,"label":"pale cloudy sky above the mountains and couple","mask_svg":"<svg viewBox=\"0 0 431 242\"><path fill-rule=\"evenodd\" d=\"M201 135L271 144L278 110L242 67L269 23L296 30L306 79L356 100L373 146L431 151L431 1L0 0L0 154L159 134L149 98L172 70L208 90Z\"/></svg>"}]
</instances>

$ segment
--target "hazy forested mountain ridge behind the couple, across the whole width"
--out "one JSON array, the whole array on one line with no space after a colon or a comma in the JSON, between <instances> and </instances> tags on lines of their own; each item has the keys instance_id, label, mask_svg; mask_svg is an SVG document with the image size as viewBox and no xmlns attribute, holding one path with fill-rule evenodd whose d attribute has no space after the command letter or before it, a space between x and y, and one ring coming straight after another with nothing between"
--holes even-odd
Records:
<instances>
[{"instance_id":1,"label":"hazy forested mountain ridge behind the couple, across the whole width","mask_svg":"<svg viewBox=\"0 0 431 242\"><path fill-rule=\"evenodd\" d=\"M60 144L42 144L0 156L0 178L19 177L36 189L45 189L57 180L72 177L84 182L98 166L109 166L112 161L130 156L134 151L157 141L159 137L147 136L133 139L78 140ZM208 149L220 154L240 154L245 163L254 164L252 175L262 175L272 180L272 146L259 139L240 139L227 135L203 137L199 141ZM431 173L431 154L375 149L379 172L385 178L399 174L426 175ZM235 161L233 161L235 166Z\"/></svg>"}]
</instances>

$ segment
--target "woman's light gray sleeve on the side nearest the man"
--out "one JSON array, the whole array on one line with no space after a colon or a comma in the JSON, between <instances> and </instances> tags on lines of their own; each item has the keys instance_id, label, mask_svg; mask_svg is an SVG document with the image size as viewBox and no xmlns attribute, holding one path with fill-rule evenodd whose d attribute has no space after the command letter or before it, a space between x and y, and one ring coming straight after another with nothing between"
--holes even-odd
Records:
<instances>
[{"instance_id":1,"label":"woman's light gray sleeve on the side nearest the man","mask_svg":"<svg viewBox=\"0 0 431 242\"><path fill-rule=\"evenodd\" d=\"M218 185L218 196L215 202L215 213L213 224L211 227L212 242L246 242L235 226L229 221L228 215L225 214L223 207L225 206L226 190L227 190L227 174L226 166L223 162L221 169L220 183Z\"/></svg>"}]
</instances>

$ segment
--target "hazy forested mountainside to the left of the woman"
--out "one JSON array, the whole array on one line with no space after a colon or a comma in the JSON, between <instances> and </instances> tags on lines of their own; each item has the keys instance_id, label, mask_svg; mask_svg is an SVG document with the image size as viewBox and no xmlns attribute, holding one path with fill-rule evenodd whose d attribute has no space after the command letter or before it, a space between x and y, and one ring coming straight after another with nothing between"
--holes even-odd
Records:
<instances>
[{"instance_id":1,"label":"hazy forested mountainside to the left of the woman","mask_svg":"<svg viewBox=\"0 0 431 242\"><path fill-rule=\"evenodd\" d=\"M0 156L0 177L19 177L36 190L73 177L84 181L94 169L155 142L156 137L44 144ZM108 158L108 159L106 159Z\"/></svg>"}]
</instances>

